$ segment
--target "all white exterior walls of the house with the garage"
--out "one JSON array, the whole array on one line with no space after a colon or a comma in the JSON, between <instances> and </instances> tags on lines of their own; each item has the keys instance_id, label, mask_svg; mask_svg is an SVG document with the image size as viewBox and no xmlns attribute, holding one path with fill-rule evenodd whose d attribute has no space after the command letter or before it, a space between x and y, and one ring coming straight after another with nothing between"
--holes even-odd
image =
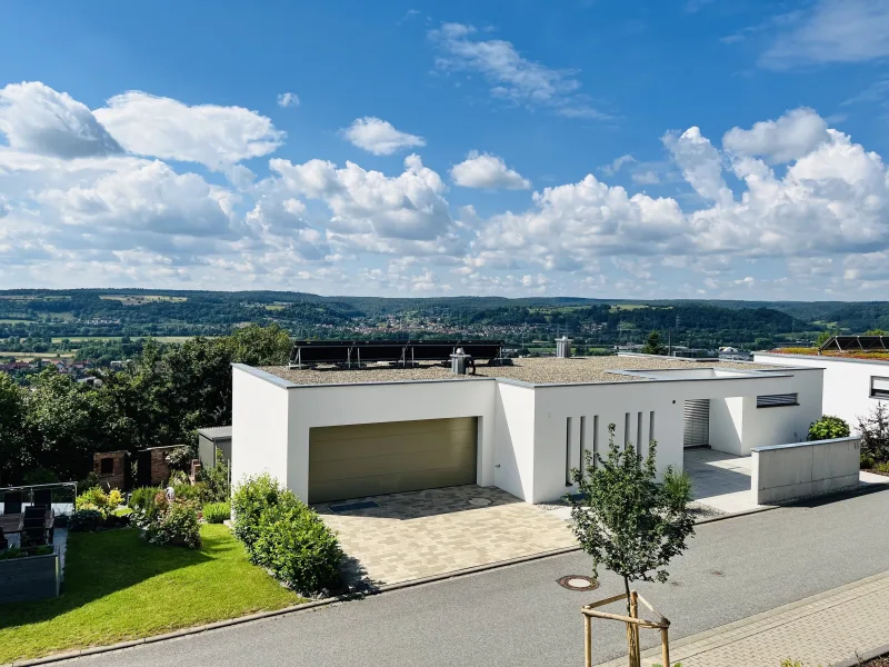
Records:
<instances>
[{"instance_id":1,"label":"all white exterior walls of the house with the garage","mask_svg":"<svg viewBox=\"0 0 889 667\"><path fill-rule=\"evenodd\" d=\"M581 462L581 417L586 418L585 449L591 450L596 440L605 452L609 424L617 427L618 442L641 441L647 447L653 412L660 470L682 468L688 399L711 399L711 441L715 446L735 442L738 454L791 441L788 434L805 438L809 422L820 417L818 370L731 375L689 379L671 374L657 380L549 386L490 378L298 386L236 365L232 474L238 480L268 471L306 498L311 428L478 417L478 484L541 502L576 490L566 484L566 465L577 468ZM799 395L800 406L756 409L757 395L789 392Z\"/></svg>"}]
</instances>

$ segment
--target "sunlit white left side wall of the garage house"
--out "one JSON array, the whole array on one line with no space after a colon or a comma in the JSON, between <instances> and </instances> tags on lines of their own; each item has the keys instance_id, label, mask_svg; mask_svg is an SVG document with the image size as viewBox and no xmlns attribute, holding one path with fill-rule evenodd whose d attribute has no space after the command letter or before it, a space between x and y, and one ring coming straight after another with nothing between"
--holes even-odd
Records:
<instances>
[{"instance_id":1,"label":"sunlit white left side wall of the garage house","mask_svg":"<svg viewBox=\"0 0 889 667\"><path fill-rule=\"evenodd\" d=\"M231 372L231 480L268 472L287 479L287 382L260 370L233 366Z\"/></svg>"}]
</instances>

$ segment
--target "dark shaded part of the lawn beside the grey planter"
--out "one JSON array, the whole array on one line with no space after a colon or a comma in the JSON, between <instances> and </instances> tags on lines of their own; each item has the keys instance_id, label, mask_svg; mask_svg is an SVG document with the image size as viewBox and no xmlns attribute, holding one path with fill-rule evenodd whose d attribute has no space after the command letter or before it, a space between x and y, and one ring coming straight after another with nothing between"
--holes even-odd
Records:
<instances>
[{"instance_id":1,"label":"dark shaded part of the lawn beside the grey planter","mask_svg":"<svg viewBox=\"0 0 889 667\"><path fill-rule=\"evenodd\" d=\"M69 534L62 595L0 605L0 629L50 620L151 577L214 560L231 548L237 546L206 536L200 550L158 547L136 528Z\"/></svg>"}]
</instances>

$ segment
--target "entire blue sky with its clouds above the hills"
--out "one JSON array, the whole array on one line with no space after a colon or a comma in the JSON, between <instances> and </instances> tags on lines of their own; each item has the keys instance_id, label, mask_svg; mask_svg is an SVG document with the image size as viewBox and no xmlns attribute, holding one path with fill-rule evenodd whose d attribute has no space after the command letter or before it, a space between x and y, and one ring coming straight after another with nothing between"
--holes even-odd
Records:
<instances>
[{"instance_id":1,"label":"entire blue sky with its clouds above the hills","mask_svg":"<svg viewBox=\"0 0 889 667\"><path fill-rule=\"evenodd\" d=\"M0 288L889 286L886 0L3 11Z\"/></svg>"}]
</instances>

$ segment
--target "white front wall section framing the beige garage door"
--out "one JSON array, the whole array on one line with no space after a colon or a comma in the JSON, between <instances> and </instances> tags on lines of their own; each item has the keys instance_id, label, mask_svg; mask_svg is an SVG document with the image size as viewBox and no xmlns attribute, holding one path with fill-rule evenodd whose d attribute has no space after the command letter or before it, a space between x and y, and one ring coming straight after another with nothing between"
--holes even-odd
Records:
<instances>
[{"instance_id":1,"label":"white front wall section framing the beige garage door","mask_svg":"<svg viewBox=\"0 0 889 667\"><path fill-rule=\"evenodd\" d=\"M293 386L289 392L287 485L309 491L309 429L416 419L479 418L478 484L493 485L493 379Z\"/></svg>"}]
</instances>

